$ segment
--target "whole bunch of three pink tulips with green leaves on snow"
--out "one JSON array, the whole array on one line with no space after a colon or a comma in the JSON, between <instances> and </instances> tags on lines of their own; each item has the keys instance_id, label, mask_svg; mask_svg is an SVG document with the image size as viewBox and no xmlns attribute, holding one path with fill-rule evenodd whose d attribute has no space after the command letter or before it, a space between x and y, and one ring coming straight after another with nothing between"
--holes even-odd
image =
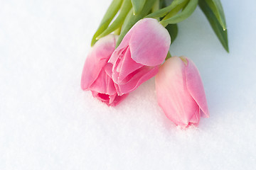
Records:
<instances>
[{"instance_id":1,"label":"whole bunch of three pink tulips with green leaves on snow","mask_svg":"<svg viewBox=\"0 0 256 170\"><path fill-rule=\"evenodd\" d=\"M81 88L117 106L142 83L155 78L159 106L167 118L186 128L209 117L196 65L171 57L177 23L199 6L228 52L228 34L220 0L113 0L92 37L82 70Z\"/></svg>"}]
</instances>

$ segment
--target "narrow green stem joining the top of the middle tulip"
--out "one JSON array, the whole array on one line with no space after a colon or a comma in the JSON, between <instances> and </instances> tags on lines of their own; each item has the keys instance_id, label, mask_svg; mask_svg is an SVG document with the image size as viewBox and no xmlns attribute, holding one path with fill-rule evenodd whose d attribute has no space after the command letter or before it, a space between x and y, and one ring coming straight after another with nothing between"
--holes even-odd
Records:
<instances>
[{"instance_id":1,"label":"narrow green stem joining the top of the middle tulip","mask_svg":"<svg viewBox=\"0 0 256 170\"><path fill-rule=\"evenodd\" d=\"M160 10L155 11L154 13L150 13L148 16L146 16L146 18L164 17L164 16L166 16L167 13L169 13L169 11L174 9L179 4L182 4L184 1L187 1L187 0L174 0L174 1L172 1L171 5L166 6L165 8L161 8ZM164 4L164 2L163 2L163 4Z\"/></svg>"}]
</instances>

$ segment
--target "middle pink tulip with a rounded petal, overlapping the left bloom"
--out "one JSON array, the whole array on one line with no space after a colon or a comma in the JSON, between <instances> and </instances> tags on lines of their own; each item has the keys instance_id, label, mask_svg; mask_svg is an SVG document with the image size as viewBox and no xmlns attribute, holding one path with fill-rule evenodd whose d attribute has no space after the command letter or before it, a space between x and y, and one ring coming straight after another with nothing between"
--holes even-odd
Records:
<instances>
[{"instance_id":1,"label":"middle pink tulip with a rounded petal, overlapping the left bloom","mask_svg":"<svg viewBox=\"0 0 256 170\"><path fill-rule=\"evenodd\" d=\"M154 77L164 62L171 38L164 26L153 18L138 21L114 50L112 79L117 94L134 91L144 81Z\"/></svg>"}]
</instances>

